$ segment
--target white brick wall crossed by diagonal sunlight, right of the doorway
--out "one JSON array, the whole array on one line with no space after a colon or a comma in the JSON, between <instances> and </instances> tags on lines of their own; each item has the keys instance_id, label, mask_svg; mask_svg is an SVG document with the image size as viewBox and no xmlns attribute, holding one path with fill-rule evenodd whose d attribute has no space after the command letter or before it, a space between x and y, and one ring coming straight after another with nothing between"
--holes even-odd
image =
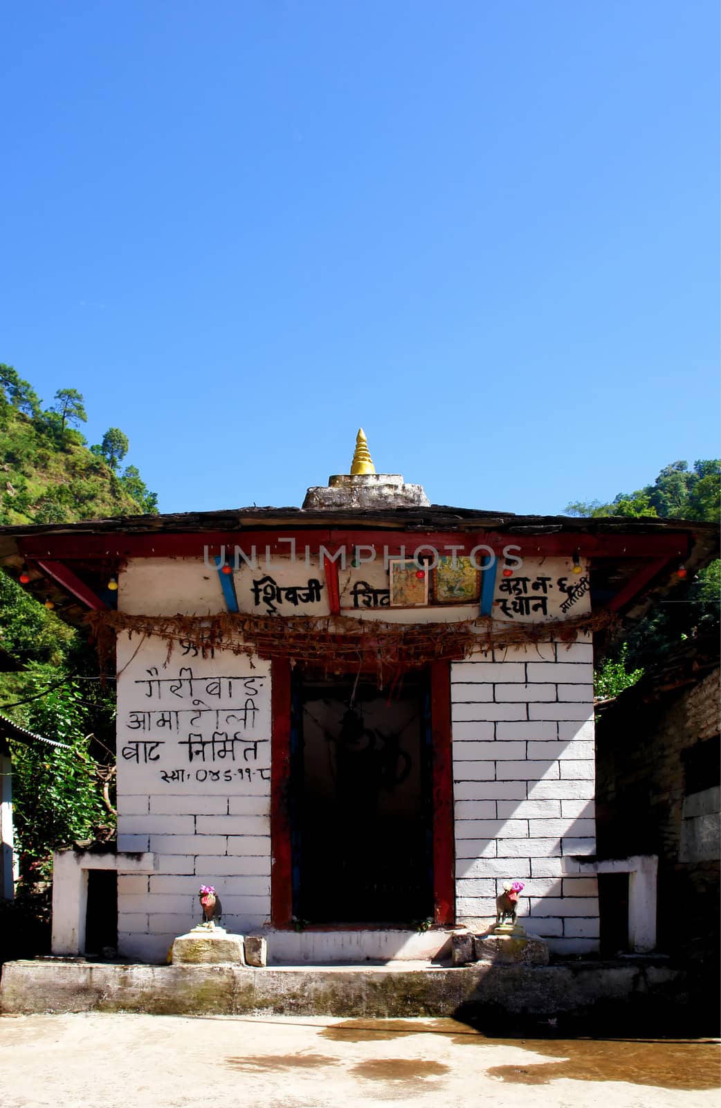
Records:
<instances>
[{"instance_id":1,"label":"white brick wall crossed by diagonal sunlight, right of the doorway","mask_svg":"<svg viewBox=\"0 0 721 1108\"><path fill-rule=\"evenodd\" d=\"M598 946L593 646L544 643L451 668L456 916L493 922L504 880L552 950Z\"/></svg>"}]
</instances>

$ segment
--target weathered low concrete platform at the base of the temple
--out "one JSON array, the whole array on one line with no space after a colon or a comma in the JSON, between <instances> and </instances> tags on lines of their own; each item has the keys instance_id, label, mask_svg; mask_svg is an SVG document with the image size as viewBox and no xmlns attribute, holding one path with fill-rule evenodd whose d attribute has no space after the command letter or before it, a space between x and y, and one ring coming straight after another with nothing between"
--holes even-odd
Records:
<instances>
[{"instance_id":1,"label":"weathered low concrete platform at the base of the temple","mask_svg":"<svg viewBox=\"0 0 721 1108\"><path fill-rule=\"evenodd\" d=\"M460 1016L477 1023L689 1005L680 968L658 960L546 966L428 963L333 966L6 963L4 1014L130 1012L156 1015Z\"/></svg>"}]
</instances>

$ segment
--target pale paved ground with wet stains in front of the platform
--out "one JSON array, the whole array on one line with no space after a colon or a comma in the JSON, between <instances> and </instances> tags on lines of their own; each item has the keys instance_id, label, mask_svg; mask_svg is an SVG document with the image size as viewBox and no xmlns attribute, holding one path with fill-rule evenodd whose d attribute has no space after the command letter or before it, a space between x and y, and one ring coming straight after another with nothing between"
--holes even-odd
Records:
<instances>
[{"instance_id":1,"label":"pale paved ground with wet stains in front of the platform","mask_svg":"<svg viewBox=\"0 0 721 1108\"><path fill-rule=\"evenodd\" d=\"M2 1108L718 1108L719 1048L452 1019L0 1017Z\"/></svg>"}]
</instances>

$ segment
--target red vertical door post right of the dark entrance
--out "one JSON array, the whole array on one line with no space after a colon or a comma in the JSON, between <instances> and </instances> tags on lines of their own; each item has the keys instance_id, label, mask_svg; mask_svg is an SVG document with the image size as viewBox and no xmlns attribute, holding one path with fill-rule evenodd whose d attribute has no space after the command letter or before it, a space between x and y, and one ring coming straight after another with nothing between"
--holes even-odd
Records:
<instances>
[{"instance_id":1,"label":"red vertical door post right of the dark entrance","mask_svg":"<svg viewBox=\"0 0 721 1108\"><path fill-rule=\"evenodd\" d=\"M455 922L453 849L453 762L451 755L451 666L431 666L431 739L433 757L433 902L434 922Z\"/></svg>"}]
</instances>

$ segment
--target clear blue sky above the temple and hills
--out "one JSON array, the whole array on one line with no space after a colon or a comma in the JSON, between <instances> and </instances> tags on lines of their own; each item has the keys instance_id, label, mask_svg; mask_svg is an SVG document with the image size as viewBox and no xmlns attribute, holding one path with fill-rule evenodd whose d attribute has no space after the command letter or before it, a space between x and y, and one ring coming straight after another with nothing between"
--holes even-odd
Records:
<instances>
[{"instance_id":1,"label":"clear blue sky above the temple and hills","mask_svg":"<svg viewBox=\"0 0 721 1108\"><path fill-rule=\"evenodd\" d=\"M718 456L714 0L6 7L0 360L161 510Z\"/></svg>"}]
</instances>

